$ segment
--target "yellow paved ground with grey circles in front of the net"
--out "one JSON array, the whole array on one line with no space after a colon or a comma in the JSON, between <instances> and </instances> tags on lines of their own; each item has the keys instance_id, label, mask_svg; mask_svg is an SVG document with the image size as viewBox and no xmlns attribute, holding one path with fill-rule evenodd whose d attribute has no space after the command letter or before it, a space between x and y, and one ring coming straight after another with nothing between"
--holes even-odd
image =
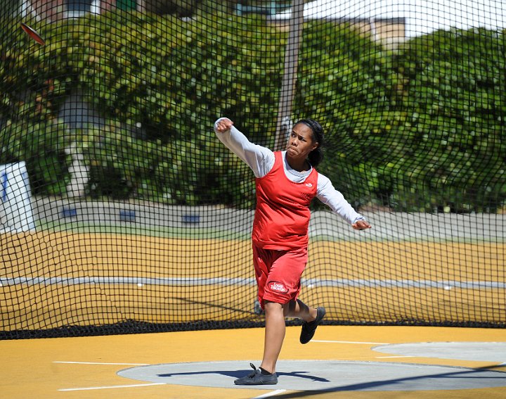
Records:
<instances>
[{"instance_id":1,"label":"yellow paved ground with grey circles in front of the net","mask_svg":"<svg viewBox=\"0 0 506 399\"><path fill-rule=\"evenodd\" d=\"M502 399L503 329L287 328L279 384L234 386L259 365L264 330L0 341L2 398Z\"/></svg>"}]
</instances>

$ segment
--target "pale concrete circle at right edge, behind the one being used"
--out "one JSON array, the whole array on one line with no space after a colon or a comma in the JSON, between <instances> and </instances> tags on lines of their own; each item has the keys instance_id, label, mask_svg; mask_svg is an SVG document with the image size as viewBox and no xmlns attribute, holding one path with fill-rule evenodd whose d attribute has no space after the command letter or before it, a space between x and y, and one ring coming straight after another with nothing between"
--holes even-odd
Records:
<instances>
[{"instance_id":1,"label":"pale concrete circle at right edge, behind the one being used","mask_svg":"<svg viewBox=\"0 0 506 399\"><path fill-rule=\"evenodd\" d=\"M476 362L506 362L506 342L392 343L372 349L391 355L473 360Z\"/></svg>"}]
</instances>

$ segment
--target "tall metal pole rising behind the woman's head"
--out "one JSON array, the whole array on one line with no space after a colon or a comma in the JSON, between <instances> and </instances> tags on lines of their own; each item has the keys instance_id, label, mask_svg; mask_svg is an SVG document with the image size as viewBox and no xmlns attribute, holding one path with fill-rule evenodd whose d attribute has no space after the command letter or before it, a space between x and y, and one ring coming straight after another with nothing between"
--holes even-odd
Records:
<instances>
[{"instance_id":1,"label":"tall metal pole rising behind the woman's head","mask_svg":"<svg viewBox=\"0 0 506 399\"><path fill-rule=\"evenodd\" d=\"M292 2L292 14L290 15L290 32L285 49L285 72L280 91L278 108L278 122L276 124L276 136L274 149L285 148L285 143L290 129L292 129L292 103L294 99L295 82L297 81L297 66L299 64L299 44L304 23L304 0Z\"/></svg>"}]
</instances>

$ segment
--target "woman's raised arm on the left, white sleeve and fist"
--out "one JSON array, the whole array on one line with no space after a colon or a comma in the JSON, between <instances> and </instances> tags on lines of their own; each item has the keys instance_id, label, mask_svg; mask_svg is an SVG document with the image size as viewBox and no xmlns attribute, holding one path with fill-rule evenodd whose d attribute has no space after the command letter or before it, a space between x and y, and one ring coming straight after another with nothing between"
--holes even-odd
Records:
<instances>
[{"instance_id":1,"label":"woman's raised arm on the left, white sleeve and fist","mask_svg":"<svg viewBox=\"0 0 506 399\"><path fill-rule=\"evenodd\" d=\"M257 144L233 126L228 118L219 118L214 122L214 132L225 146L243 160L254 172L255 177L264 177L274 166L274 153Z\"/></svg>"}]
</instances>

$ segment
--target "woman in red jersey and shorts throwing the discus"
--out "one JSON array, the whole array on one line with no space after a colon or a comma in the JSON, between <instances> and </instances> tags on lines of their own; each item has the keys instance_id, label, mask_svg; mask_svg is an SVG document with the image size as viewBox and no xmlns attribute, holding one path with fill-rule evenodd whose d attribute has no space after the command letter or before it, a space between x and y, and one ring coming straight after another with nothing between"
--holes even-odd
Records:
<instances>
[{"instance_id":1,"label":"woman in red jersey and shorts throwing the discus","mask_svg":"<svg viewBox=\"0 0 506 399\"><path fill-rule=\"evenodd\" d=\"M330 179L314 169L322 160L323 129L318 122L297 122L285 151L252 144L228 118L214 123L219 140L253 170L256 177L252 247L259 303L265 311L264 357L259 369L236 379L236 385L278 383L275 365L285 338L285 317L304 320L301 343L313 338L325 308L310 308L297 298L308 260L309 204L317 197L353 229L370 224L356 213Z\"/></svg>"}]
</instances>

